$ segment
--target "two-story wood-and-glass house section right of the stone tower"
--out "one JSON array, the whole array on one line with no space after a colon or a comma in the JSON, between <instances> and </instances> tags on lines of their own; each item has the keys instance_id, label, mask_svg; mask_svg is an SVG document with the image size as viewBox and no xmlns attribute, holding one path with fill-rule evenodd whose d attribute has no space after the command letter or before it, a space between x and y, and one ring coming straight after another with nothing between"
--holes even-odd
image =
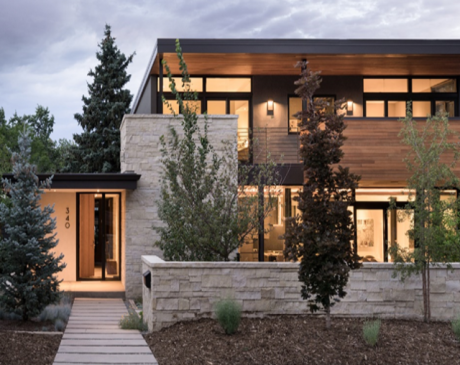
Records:
<instances>
[{"instance_id":1,"label":"two-story wood-and-glass house section right of the stone tower","mask_svg":"<svg viewBox=\"0 0 460 365\"><path fill-rule=\"evenodd\" d=\"M294 93L300 73L294 65L300 60L322 73L318 98L331 104L346 102L348 140L341 164L361 175L350 208L357 224L358 254L366 261L386 262L391 260L392 242L413 246L406 236L409 220L399 222L396 212L389 210L390 196L399 205L408 198L403 163L407 148L398 137L398 119L412 101L414 117L447 112L451 127L460 131L459 41L185 39L181 46L192 89L199 94L198 110L238 116L238 159L260 163L269 151L282 163L283 193L265 220L270 232L248 239L240 248L242 261L283 260L284 218L296 214L293 197L303 183L299 121L293 116L302 109ZM173 96L160 65L166 60L173 74L180 75L174 49L173 39L158 40L134 115L171 113L161 102ZM448 199L457 192L444 194Z\"/></svg>"}]
</instances>

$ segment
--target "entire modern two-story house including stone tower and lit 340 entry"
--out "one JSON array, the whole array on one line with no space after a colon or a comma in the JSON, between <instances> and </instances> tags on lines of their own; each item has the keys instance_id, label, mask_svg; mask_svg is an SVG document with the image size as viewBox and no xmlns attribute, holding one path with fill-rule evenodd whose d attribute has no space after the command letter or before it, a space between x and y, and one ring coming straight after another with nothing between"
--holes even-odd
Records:
<instances>
[{"instance_id":1,"label":"entire modern two-story house including stone tower and lit 340 entry","mask_svg":"<svg viewBox=\"0 0 460 365\"><path fill-rule=\"evenodd\" d=\"M406 236L409 222L389 210L390 197L400 205L407 201L407 148L398 137L398 119L412 101L414 117L447 112L451 128L460 131L460 41L183 39L181 46L199 96L197 110L209 115L211 140L218 145L236 137L239 160L262 163L268 151L279 163L282 193L264 222L270 231L248 237L241 261L283 260L280 236L285 218L296 214L293 198L303 183L294 117L302 108L294 93L300 60L322 72L316 97L346 102L341 164L361 175L350 207L358 254L386 262L392 242L413 246ZM158 221L159 137L168 125L178 125L162 103L163 97L170 100L177 111L163 60L179 77L174 39L157 41L132 113L123 120L120 174L58 174L43 197L46 204L56 203L58 250L68 264L61 277L71 290L95 281L107 291L116 284L116 290L137 296L141 255L161 256L152 230ZM446 199L457 193L444 192Z\"/></svg>"}]
</instances>

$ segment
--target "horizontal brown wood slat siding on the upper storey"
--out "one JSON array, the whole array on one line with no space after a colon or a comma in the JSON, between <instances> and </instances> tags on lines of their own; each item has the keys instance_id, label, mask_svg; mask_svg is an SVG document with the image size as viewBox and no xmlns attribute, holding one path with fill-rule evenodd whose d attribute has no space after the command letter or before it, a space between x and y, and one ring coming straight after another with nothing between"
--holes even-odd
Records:
<instances>
[{"instance_id":1,"label":"horizontal brown wood slat siding on the upper storey","mask_svg":"<svg viewBox=\"0 0 460 365\"><path fill-rule=\"evenodd\" d=\"M361 175L361 186L404 186L409 173L404 158L409 148L398 136L402 123L398 120L360 119L346 120L347 129L341 165ZM419 126L425 124L418 121ZM451 120L450 128L460 133L460 120ZM254 145L254 162L263 163L267 152L277 163L300 162L298 135L288 134L285 128L265 128L254 132L258 141ZM444 161L449 160L446 155ZM449 160L450 161L450 160ZM460 176L460 166L454 170Z\"/></svg>"}]
</instances>

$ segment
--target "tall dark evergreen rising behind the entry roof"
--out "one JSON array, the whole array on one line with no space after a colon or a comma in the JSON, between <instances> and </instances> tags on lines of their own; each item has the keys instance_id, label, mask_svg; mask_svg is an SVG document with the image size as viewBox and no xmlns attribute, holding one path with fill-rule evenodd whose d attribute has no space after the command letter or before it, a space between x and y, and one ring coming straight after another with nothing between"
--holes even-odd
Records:
<instances>
[{"instance_id":1,"label":"tall dark evergreen rising behind the entry roof","mask_svg":"<svg viewBox=\"0 0 460 365\"><path fill-rule=\"evenodd\" d=\"M75 119L83 128L82 134L74 134L76 147L69 154L66 172L119 172L120 125L133 98L124 86L131 79L126 69L134 54L126 58L115 45L109 25L105 26L105 38L96 53L99 65L88 76L89 97L83 96L83 113Z\"/></svg>"}]
</instances>

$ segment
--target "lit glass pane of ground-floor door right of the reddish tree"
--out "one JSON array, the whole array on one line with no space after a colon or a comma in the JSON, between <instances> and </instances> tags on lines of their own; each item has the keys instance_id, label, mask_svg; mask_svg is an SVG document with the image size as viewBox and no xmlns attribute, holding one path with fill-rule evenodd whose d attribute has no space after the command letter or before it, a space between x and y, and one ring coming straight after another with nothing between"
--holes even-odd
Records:
<instances>
[{"instance_id":1,"label":"lit glass pane of ground-floor door right of the reddish tree","mask_svg":"<svg viewBox=\"0 0 460 365\"><path fill-rule=\"evenodd\" d=\"M384 210L357 209L356 230L358 255L363 261L384 261Z\"/></svg>"}]
</instances>

